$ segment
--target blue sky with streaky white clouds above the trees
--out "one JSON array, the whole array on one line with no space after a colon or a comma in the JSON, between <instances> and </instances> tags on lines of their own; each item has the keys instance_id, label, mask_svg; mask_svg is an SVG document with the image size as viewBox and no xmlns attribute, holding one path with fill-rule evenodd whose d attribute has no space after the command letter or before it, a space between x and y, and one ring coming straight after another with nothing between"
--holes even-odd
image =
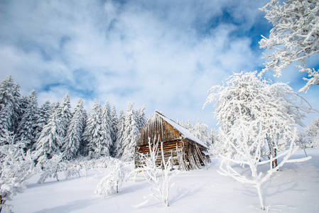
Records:
<instances>
[{"instance_id":1,"label":"blue sky with streaky white clouds above the trees","mask_svg":"<svg viewBox=\"0 0 319 213\"><path fill-rule=\"evenodd\" d=\"M68 92L88 110L94 99L118 111L132 102L214 128L213 104L202 109L207 90L264 66L258 42L271 24L258 9L266 3L0 0L0 79L11 73L21 94L36 89L40 104ZM318 67L318 55L308 65ZM272 75L295 92L306 84L294 67ZM318 94L313 86L303 96L318 109Z\"/></svg>"}]
</instances>

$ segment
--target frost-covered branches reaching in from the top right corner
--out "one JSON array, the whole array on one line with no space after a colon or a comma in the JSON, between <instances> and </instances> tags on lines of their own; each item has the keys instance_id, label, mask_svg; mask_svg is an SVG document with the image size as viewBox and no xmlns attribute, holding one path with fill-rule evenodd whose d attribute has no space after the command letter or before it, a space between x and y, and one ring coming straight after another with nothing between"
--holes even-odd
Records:
<instances>
[{"instance_id":1,"label":"frost-covered branches reaching in from the top right corner","mask_svg":"<svg viewBox=\"0 0 319 213\"><path fill-rule=\"evenodd\" d=\"M309 78L300 92L307 92L310 86L319 84L318 70L306 67L307 58L319 53L319 3L318 0L287 0L280 4L279 0L271 0L259 9L266 13L265 18L274 26L269 38L263 36L259 42L261 48L272 49L274 52L265 55L268 60L260 75L274 70L276 77L281 70L293 62L301 72L307 72Z\"/></svg>"}]
</instances>

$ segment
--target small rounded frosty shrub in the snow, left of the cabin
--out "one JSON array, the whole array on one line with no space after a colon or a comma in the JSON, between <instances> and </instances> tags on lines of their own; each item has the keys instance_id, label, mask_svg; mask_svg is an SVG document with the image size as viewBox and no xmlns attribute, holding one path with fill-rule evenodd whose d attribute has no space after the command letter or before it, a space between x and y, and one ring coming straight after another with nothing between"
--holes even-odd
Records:
<instances>
[{"instance_id":1,"label":"small rounded frosty shrub in the snow, left of the cabin","mask_svg":"<svg viewBox=\"0 0 319 213\"><path fill-rule=\"evenodd\" d=\"M109 162L109 165L105 171L105 176L97 185L97 189L95 190L97 195L107 196L119 193L123 183L126 181L126 171L121 160L113 158Z\"/></svg>"}]
</instances>

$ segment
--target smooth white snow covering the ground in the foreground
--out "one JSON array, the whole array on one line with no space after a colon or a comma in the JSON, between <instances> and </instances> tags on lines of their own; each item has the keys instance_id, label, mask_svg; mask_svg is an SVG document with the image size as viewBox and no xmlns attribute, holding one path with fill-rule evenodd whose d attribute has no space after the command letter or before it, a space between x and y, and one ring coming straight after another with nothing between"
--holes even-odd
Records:
<instances>
[{"instance_id":1,"label":"smooth white snow covering the ground in the foreground","mask_svg":"<svg viewBox=\"0 0 319 213\"><path fill-rule=\"evenodd\" d=\"M266 211L259 209L259 198L252 185L243 185L217 173L218 158L208 170L179 173L173 179L170 207L151 200L144 207L149 185L139 174L136 181L124 183L121 192L109 197L94 194L104 170L90 170L87 178L60 181L48 179L37 184L39 175L28 180L26 191L13 197L13 211L19 212L319 212L319 149L307 149L313 158L288 163L262 186ZM304 157L303 150L293 158Z\"/></svg>"}]
</instances>

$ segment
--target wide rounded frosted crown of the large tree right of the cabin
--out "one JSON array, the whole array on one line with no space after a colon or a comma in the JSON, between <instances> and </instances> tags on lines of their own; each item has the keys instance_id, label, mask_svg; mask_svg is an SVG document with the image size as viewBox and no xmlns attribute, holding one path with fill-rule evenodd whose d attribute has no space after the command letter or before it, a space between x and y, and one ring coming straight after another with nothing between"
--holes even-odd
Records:
<instances>
[{"instance_id":1,"label":"wide rounded frosted crown of the large tree right of the cabin","mask_svg":"<svg viewBox=\"0 0 319 213\"><path fill-rule=\"evenodd\" d=\"M254 126L250 134L259 134L261 124L261 135L268 142L265 149L269 150L264 155L274 158L273 167L276 167L277 151L286 150L296 125L304 126L305 112L311 112L311 107L303 104L306 99L294 93L288 84L271 84L256 77L256 72L234 73L229 77L227 87L212 87L205 104L215 101L215 116L220 129L231 140L236 138L232 138L230 129L240 126L241 114L245 125ZM222 146L222 150L229 154L235 152L232 146Z\"/></svg>"}]
</instances>

